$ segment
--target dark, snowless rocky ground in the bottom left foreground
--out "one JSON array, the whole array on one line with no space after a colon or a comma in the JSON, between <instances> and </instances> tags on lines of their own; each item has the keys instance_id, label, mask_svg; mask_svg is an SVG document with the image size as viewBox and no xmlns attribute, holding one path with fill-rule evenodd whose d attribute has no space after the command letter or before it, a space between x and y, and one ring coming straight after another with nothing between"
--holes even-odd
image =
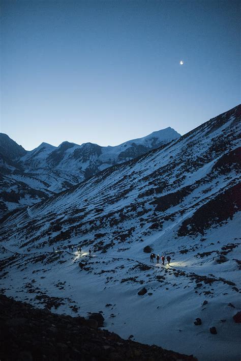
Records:
<instances>
[{"instance_id":1,"label":"dark, snowless rocky ground in the bottom left foreground","mask_svg":"<svg viewBox=\"0 0 241 361\"><path fill-rule=\"evenodd\" d=\"M97 322L52 314L0 295L1 361L196 360L157 346L123 340Z\"/></svg>"}]
</instances>

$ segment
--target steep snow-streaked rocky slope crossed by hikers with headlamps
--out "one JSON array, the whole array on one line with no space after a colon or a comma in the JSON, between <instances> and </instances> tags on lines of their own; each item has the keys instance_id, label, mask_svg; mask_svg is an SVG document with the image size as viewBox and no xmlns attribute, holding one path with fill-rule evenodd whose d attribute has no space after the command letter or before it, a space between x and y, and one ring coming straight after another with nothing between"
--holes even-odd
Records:
<instances>
[{"instance_id":1,"label":"steep snow-streaked rocky slope crossed by hikers with headlamps","mask_svg":"<svg viewBox=\"0 0 241 361\"><path fill-rule=\"evenodd\" d=\"M125 339L239 359L240 120L238 105L3 218L3 292L58 313L101 311Z\"/></svg>"}]
</instances>

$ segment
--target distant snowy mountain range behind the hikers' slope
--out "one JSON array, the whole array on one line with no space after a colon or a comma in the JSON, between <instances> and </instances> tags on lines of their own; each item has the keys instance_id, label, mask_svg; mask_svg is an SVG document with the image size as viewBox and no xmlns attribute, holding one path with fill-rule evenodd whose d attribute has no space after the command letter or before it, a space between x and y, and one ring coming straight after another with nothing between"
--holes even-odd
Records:
<instances>
[{"instance_id":1,"label":"distant snowy mountain range behind the hikers' slope","mask_svg":"<svg viewBox=\"0 0 241 361\"><path fill-rule=\"evenodd\" d=\"M111 165L138 157L180 136L166 128L116 147L64 142L42 143L25 151L0 134L0 217L18 207L33 205L92 177Z\"/></svg>"}]
</instances>

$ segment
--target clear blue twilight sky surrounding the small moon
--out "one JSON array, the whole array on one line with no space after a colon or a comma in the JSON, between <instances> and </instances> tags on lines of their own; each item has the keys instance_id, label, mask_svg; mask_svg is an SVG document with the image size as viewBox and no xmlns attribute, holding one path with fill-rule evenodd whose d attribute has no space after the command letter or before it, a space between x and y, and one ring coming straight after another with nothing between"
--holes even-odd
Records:
<instances>
[{"instance_id":1,"label":"clear blue twilight sky surrounding the small moon","mask_svg":"<svg viewBox=\"0 0 241 361\"><path fill-rule=\"evenodd\" d=\"M183 135L240 103L239 17L236 0L2 0L0 130L26 150Z\"/></svg>"}]
</instances>

